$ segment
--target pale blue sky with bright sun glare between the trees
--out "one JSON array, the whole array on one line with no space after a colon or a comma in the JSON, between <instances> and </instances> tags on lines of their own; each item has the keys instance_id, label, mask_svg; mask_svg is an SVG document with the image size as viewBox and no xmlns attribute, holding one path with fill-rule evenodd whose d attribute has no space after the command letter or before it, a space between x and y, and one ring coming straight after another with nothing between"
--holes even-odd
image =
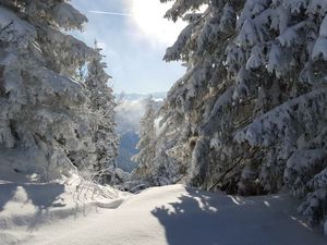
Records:
<instances>
[{"instance_id":1,"label":"pale blue sky with bright sun glare between the trees","mask_svg":"<svg viewBox=\"0 0 327 245\"><path fill-rule=\"evenodd\" d=\"M97 39L114 93L167 91L184 73L179 63L162 61L184 26L162 19L169 5L159 0L73 0L72 4L88 19L78 37L88 45Z\"/></svg>"}]
</instances>

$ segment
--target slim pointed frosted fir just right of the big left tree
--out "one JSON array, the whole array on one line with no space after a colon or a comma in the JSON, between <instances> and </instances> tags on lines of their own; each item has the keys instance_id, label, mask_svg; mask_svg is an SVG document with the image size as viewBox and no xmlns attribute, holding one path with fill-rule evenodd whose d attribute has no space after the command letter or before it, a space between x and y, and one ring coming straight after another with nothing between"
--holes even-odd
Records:
<instances>
[{"instance_id":1,"label":"slim pointed frosted fir just right of the big left tree","mask_svg":"<svg viewBox=\"0 0 327 245\"><path fill-rule=\"evenodd\" d=\"M116 158L118 156L118 135L114 123L114 97L109 86L111 78L105 71L100 50L88 63L86 87L90 90L90 110L96 119L96 131L93 142L96 145L97 159L93 166L95 177L100 182L113 183L116 175Z\"/></svg>"}]
</instances>

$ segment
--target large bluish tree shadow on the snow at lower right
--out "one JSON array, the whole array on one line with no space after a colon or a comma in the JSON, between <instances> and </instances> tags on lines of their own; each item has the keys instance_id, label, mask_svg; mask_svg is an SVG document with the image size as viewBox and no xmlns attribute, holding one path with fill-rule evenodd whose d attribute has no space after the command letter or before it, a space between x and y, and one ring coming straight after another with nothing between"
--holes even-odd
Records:
<instances>
[{"instance_id":1,"label":"large bluish tree shadow on the snow at lower right","mask_svg":"<svg viewBox=\"0 0 327 245\"><path fill-rule=\"evenodd\" d=\"M165 228L169 245L317 245L317 240L311 241L312 231L289 215L294 207L280 208L283 198L253 201L186 188L179 201L157 207L152 215Z\"/></svg>"}]
</instances>

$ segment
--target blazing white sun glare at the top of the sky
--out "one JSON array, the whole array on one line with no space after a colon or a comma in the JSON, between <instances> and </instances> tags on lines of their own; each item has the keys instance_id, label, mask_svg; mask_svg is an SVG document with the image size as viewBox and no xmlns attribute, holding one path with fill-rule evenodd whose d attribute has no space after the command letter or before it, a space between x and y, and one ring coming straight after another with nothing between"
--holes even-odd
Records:
<instances>
[{"instance_id":1,"label":"blazing white sun glare at the top of the sky","mask_svg":"<svg viewBox=\"0 0 327 245\"><path fill-rule=\"evenodd\" d=\"M182 21L173 23L164 19L172 3L164 4L159 0L131 0L129 4L131 21L141 30L137 37L145 37L155 46L172 45L185 26Z\"/></svg>"}]
</instances>

